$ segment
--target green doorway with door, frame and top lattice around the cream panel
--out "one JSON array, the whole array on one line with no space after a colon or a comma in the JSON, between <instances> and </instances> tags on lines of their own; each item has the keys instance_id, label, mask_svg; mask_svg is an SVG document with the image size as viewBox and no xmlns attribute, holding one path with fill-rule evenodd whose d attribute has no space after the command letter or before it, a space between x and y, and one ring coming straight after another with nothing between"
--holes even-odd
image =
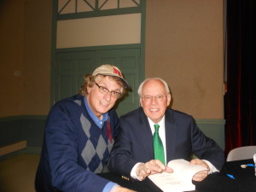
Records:
<instances>
[{"instance_id":1,"label":"green doorway with door, frame and top lattice around the cream panel","mask_svg":"<svg viewBox=\"0 0 256 192\"><path fill-rule=\"evenodd\" d=\"M113 64L124 73L131 84L128 96L115 106L118 115L139 106L137 88L144 79L144 0L106 1L54 1L53 2L53 44L51 105L67 96L78 93L83 83L83 75L101 64ZM117 44L94 47L74 47L56 49L56 24L58 20L125 15L142 13L141 44Z\"/></svg>"}]
</instances>

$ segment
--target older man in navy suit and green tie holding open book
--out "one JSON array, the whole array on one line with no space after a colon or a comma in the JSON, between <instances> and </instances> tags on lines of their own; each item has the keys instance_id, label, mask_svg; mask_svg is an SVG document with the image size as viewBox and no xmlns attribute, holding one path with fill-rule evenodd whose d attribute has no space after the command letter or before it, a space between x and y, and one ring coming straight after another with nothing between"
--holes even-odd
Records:
<instances>
[{"instance_id":1,"label":"older man in navy suit and green tie holding open book","mask_svg":"<svg viewBox=\"0 0 256 192\"><path fill-rule=\"evenodd\" d=\"M201 132L190 115L168 108L171 94L163 79L146 79L138 94L141 107L119 119L121 131L108 161L112 172L143 180L157 172L172 172L172 167L166 166L168 161L190 160L191 154L199 159L190 164L207 167L193 180L202 181L220 171L223 150Z\"/></svg>"}]
</instances>

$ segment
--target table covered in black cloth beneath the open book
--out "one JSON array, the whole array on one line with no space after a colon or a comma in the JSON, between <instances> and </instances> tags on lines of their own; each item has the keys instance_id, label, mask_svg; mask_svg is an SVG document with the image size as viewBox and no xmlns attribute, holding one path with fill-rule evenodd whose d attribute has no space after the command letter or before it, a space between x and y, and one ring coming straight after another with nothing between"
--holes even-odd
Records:
<instances>
[{"instance_id":1,"label":"table covered in black cloth beneath the open book","mask_svg":"<svg viewBox=\"0 0 256 192\"><path fill-rule=\"evenodd\" d=\"M201 182L194 182L194 192L256 192L254 167L241 168L241 165L246 164L253 164L253 160L226 162L221 172L213 173ZM227 174L233 175L235 179L228 177ZM99 175L138 192L162 192L148 178L140 182L133 179L127 180L127 178L113 173L101 173Z\"/></svg>"}]
</instances>

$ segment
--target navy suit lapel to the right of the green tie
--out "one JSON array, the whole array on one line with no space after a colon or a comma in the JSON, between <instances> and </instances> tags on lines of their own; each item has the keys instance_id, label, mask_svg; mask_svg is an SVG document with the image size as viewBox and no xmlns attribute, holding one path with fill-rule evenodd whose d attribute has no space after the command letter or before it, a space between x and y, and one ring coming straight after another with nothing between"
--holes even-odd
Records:
<instances>
[{"instance_id":1,"label":"navy suit lapel to the right of the green tie","mask_svg":"<svg viewBox=\"0 0 256 192\"><path fill-rule=\"evenodd\" d=\"M177 125L172 115L172 111L166 109L166 163L172 160L175 152L177 138Z\"/></svg>"}]
</instances>

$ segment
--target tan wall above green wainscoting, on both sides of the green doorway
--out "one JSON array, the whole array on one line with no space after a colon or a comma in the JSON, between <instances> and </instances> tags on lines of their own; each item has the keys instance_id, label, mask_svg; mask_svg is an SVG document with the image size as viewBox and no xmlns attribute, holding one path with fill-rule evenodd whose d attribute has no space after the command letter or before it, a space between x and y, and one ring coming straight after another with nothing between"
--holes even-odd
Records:
<instances>
[{"instance_id":1,"label":"tan wall above green wainscoting, on both sides of the green doorway","mask_svg":"<svg viewBox=\"0 0 256 192\"><path fill-rule=\"evenodd\" d=\"M0 1L0 117L49 111L52 1L23 1ZM166 79L172 108L197 119L224 115L222 9L221 0L147 1L146 77Z\"/></svg>"}]
</instances>

